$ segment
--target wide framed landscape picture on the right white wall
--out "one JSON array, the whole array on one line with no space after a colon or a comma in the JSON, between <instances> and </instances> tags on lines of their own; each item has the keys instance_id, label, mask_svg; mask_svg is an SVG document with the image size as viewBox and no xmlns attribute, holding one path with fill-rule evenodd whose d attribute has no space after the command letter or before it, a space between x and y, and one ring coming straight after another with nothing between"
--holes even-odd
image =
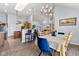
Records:
<instances>
[{"instance_id":1,"label":"wide framed landscape picture on the right white wall","mask_svg":"<svg viewBox=\"0 0 79 59\"><path fill-rule=\"evenodd\" d=\"M73 26L73 25L76 25L76 20L77 20L76 17L60 19L59 20L59 26Z\"/></svg>"}]
</instances>

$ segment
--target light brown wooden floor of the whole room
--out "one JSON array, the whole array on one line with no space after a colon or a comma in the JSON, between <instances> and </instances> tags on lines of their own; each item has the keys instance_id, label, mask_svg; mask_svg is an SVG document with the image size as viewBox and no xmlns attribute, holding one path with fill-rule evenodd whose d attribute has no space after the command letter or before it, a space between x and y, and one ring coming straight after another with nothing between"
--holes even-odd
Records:
<instances>
[{"instance_id":1,"label":"light brown wooden floor of the whole room","mask_svg":"<svg viewBox=\"0 0 79 59\"><path fill-rule=\"evenodd\" d=\"M69 45L67 56L79 56L79 46ZM34 42L22 44L20 39L8 38L0 48L0 56L38 56L40 50ZM47 56L42 54L41 56ZM54 56L57 56L55 52Z\"/></svg>"}]
</instances>

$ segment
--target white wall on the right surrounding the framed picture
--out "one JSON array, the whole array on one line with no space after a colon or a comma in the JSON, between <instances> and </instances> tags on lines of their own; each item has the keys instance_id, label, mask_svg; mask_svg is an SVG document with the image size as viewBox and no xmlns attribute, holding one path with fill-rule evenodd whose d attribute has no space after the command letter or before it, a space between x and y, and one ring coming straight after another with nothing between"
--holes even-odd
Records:
<instances>
[{"instance_id":1,"label":"white wall on the right surrounding the framed picture","mask_svg":"<svg viewBox=\"0 0 79 59\"><path fill-rule=\"evenodd\" d=\"M59 20L68 17L77 17L76 26L59 26ZM71 44L79 45L79 10L58 6L55 8L55 27L58 31L73 33Z\"/></svg>"}]
</instances>

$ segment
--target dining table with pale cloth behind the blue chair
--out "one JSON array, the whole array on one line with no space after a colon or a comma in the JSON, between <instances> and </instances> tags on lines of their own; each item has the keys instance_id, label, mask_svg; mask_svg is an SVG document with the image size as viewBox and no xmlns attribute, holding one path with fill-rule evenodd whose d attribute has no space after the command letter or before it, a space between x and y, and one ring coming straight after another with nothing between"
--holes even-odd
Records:
<instances>
[{"instance_id":1,"label":"dining table with pale cloth behind the blue chair","mask_svg":"<svg viewBox=\"0 0 79 59\"><path fill-rule=\"evenodd\" d=\"M51 34L49 35L40 35L40 38L46 38L48 40L49 46L56 50L57 52L61 51L61 46L63 45L65 41L65 35L56 35L52 36ZM37 40L35 41L35 44L37 45Z\"/></svg>"}]
</instances>

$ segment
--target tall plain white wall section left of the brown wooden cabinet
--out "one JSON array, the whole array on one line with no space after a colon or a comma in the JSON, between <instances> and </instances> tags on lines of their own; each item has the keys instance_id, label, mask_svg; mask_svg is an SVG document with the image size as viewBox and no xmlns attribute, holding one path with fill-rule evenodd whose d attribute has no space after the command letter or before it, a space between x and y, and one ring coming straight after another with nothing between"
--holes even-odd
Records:
<instances>
[{"instance_id":1,"label":"tall plain white wall section left of the brown wooden cabinet","mask_svg":"<svg viewBox=\"0 0 79 59\"><path fill-rule=\"evenodd\" d=\"M8 36L11 36L16 31L16 16L8 14Z\"/></svg>"}]
</instances>

